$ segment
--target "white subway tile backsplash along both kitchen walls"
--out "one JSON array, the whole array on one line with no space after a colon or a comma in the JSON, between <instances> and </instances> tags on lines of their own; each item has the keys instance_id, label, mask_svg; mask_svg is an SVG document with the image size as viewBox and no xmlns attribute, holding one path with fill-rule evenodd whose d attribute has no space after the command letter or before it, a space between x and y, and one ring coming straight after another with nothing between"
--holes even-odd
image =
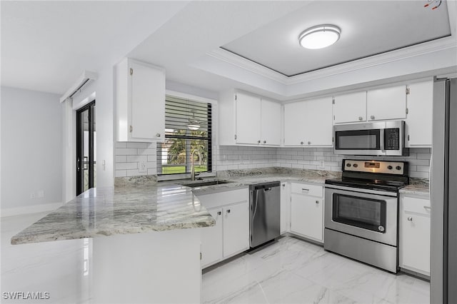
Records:
<instances>
[{"instance_id":1,"label":"white subway tile backsplash along both kitchen walls","mask_svg":"<svg viewBox=\"0 0 457 304\"><path fill-rule=\"evenodd\" d=\"M343 158L370 158L408 161L409 176L415 178L428 178L431 158L431 148L410 148L409 156L390 158L336 155L333 148L219 146L213 151L213 171L266 167L341 171ZM116 143L116 177L155 175L156 159L156 143ZM140 161L145 161L147 172L139 172Z\"/></svg>"}]
</instances>

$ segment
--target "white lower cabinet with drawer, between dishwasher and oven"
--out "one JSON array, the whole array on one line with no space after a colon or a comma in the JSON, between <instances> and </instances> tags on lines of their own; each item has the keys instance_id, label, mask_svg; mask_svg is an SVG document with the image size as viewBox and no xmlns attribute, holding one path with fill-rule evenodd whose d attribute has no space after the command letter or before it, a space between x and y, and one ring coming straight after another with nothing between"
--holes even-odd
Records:
<instances>
[{"instance_id":1,"label":"white lower cabinet with drawer, between dishwasher and oven","mask_svg":"<svg viewBox=\"0 0 457 304\"><path fill-rule=\"evenodd\" d=\"M323 243L323 187L291 183L291 233Z\"/></svg>"}]
</instances>

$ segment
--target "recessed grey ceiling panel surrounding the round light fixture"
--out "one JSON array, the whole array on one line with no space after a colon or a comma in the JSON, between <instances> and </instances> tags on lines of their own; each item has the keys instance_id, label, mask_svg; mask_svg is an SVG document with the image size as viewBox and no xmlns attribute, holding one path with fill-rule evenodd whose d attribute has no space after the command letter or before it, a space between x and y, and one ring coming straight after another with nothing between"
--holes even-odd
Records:
<instances>
[{"instance_id":1,"label":"recessed grey ceiling panel surrounding the round light fixture","mask_svg":"<svg viewBox=\"0 0 457 304\"><path fill-rule=\"evenodd\" d=\"M450 36L446 1L434 10L427 3L313 1L221 48L295 76ZM303 49L298 37L319 24L338 26L341 38L326 49Z\"/></svg>"}]
</instances>

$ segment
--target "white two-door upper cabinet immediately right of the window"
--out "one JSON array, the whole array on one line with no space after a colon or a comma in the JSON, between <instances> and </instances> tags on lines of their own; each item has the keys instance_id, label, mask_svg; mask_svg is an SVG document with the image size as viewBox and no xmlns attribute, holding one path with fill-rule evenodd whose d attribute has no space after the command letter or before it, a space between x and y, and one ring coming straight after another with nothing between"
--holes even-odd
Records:
<instances>
[{"instance_id":1,"label":"white two-door upper cabinet immediately right of the window","mask_svg":"<svg viewBox=\"0 0 457 304\"><path fill-rule=\"evenodd\" d=\"M279 146L281 103L243 92L221 93L219 144Z\"/></svg>"}]
</instances>

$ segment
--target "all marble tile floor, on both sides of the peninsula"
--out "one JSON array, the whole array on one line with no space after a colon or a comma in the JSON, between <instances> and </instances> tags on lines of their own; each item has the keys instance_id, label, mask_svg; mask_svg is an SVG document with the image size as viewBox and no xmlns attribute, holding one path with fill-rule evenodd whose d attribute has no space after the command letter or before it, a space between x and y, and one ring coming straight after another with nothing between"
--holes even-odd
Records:
<instances>
[{"instance_id":1,"label":"all marble tile floor, on both sides of the peninsula","mask_svg":"<svg viewBox=\"0 0 457 304\"><path fill-rule=\"evenodd\" d=\"M9 243L45 215L1 218L0 302L91 303L90 239ZM202 287L203 303L429 303L430 284L284 237L204 273ZM5 291L48 292L50 298L9 300Z\"/></svg>"}]
</instances>

